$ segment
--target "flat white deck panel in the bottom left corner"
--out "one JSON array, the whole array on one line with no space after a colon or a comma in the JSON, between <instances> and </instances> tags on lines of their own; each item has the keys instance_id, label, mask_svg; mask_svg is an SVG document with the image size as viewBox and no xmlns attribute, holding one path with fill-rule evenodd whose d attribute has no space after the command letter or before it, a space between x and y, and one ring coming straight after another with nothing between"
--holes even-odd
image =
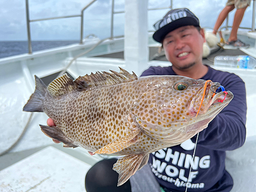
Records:
<instances>
[{"instance_id":1,"label":"flat white deck panel in the bottom left corner","mask_svg":"<svg viewBox=\"0 0 256 192\"><path fill-rule=\"evenodd\" d=\"M86 191L91 165L49 146L0 172L1 191Z\"/></svg>"}]
</instances>

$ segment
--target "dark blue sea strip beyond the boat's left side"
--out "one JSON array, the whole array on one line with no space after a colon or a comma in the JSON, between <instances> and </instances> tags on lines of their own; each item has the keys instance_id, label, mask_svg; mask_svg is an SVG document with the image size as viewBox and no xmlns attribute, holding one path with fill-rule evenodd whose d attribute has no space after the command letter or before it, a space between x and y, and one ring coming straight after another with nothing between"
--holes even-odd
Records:
<instances>
[{"instance_id":1,"label":"dark blue sea strip beyond the boat's left side","mask_svg":"<svg viewBox=\"0 0 256 192\"><path fill-rule=\"evenodd\" d=\"M32 41L32 52L67 46L78 42L79 40ZM0 41L0 58L24 53L28 53L27 41Z\"/></svg>"}]
</instances>

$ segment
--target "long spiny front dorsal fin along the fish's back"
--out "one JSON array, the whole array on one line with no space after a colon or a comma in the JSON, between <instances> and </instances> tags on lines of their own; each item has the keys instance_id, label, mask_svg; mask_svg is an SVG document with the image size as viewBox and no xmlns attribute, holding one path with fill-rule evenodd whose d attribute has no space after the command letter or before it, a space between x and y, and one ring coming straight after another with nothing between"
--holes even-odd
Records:
<instances>
[{"instance_id":1,"label":"long spiny front dorsal fin along the fish's back","mask_svg":"<svg viewBox=\"0 0 256 192\"><path fill-rule=\"evenodd\" d=\"M137 75L133 72L130 74L129 72L125 71L124 69L120 68L120 72L115 72L110 70L112 73L109 72L96 72L91 73L91 75L84 75L79 76L74 83L76 83L77 90L87 90L96 87L102 86L110 86L113 84L119 84L124 82L131 82L137 80Z\"/></svg>"}]
</instances>

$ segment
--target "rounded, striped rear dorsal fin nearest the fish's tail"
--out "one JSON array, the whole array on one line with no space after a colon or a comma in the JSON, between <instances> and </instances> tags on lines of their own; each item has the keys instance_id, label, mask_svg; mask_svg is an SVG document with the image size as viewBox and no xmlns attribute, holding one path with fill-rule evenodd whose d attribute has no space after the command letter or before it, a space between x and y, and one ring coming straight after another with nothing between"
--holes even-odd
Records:
<instances>
[{"instance_id":1,"label":"rounded, striped rear dorsal fin nearest the fish's tail","mask_svg":"<svg viewBox=\"0 0 256 192\"><path fill-rule=\"evenodd\" d=\"M52 96L60 96L76 89L76 84L67 74L52 81L47 87Z\"/></svg>"}]
</instances>

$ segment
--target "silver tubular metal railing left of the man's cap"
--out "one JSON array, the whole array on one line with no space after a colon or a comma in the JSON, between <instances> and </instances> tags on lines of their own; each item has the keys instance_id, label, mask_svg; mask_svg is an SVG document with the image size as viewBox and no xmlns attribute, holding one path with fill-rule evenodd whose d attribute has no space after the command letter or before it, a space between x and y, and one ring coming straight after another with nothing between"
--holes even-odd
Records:
<instances>
[{"instance_id":1,"label":"silver tubular metal railing left of the man's cap","mask_svg":"<svg viewBox=\"0 0 256 192\"><path fill-rule=\"evenodd\" d=\"M84 14L84 10L86 10L88 7L90 7L96 1L97 0L91 1L87 6L85 6L81 10L81 14L79 14L79 15L59 16L59 17L50 17L50 18L42 18L42 19L32 19L32 20L30 20L30 18L29 18L29 0L26 0L26 18L27 18L27 34L28 34L28 49L29 49L28 53L32 54L30 23L31 22L40 22L40 21L43 21L43 20L52 20L52 19L60 19L60 18L71 18L71 17L81 17L80 44L83 44L83 14ZM110 39L114 38L114 34L113 34L114 33L114 14L124 13L124 11L115 11L114 10L114 6L115 6L115 0L112 0L111 35L110 35ZM170 6L169 7L148 9L148 11L151 11L151 10L161 10L161 9L173 9L173 0L170 0Z\"/></svg>"}]
</instances>

